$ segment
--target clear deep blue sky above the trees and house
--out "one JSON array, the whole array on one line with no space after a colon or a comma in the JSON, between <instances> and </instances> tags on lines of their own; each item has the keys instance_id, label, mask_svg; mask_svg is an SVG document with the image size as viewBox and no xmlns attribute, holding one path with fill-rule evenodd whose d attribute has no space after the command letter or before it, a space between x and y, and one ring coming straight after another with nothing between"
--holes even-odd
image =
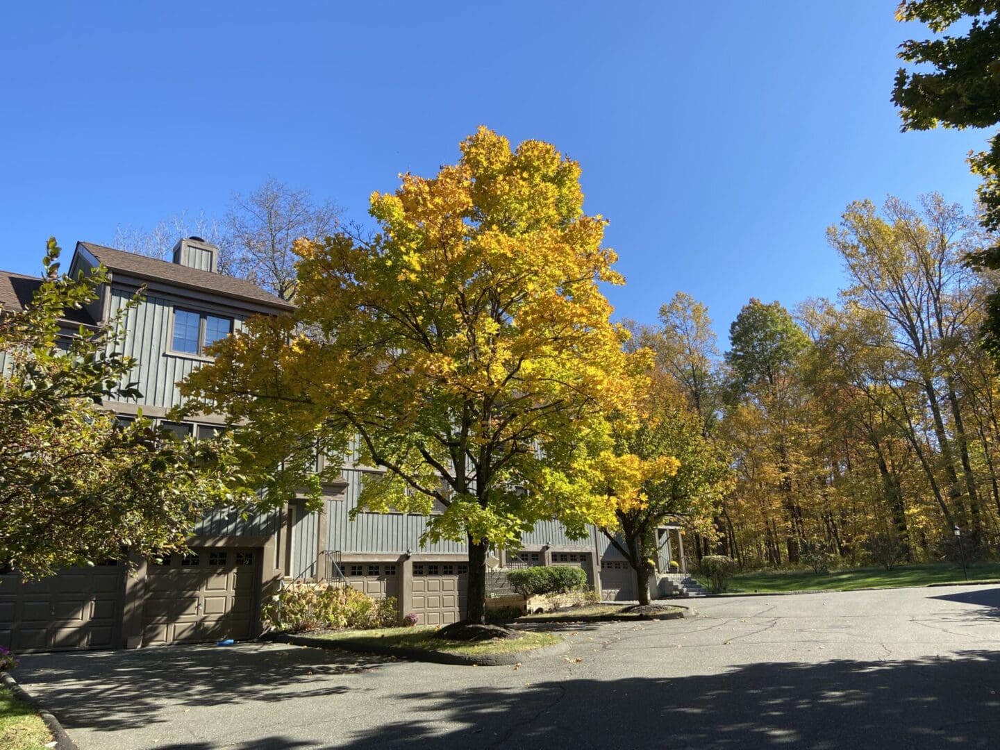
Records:
<instances>
[{"instance_id":1,"label":"clear deep blue sky above the trees and house","mask_svg":"<svg viewBox=\"0 0 1000 750\"><path fill-rule=\"evenodd\" d=\"M725 333L751 297L834 293L851 200L971 204L981 132L900 133L896 0L16 3L0 29L0 268L45 239L221 215L268 175L367 220L479 123L581 162L617 314L680 289ZM723 340L725 343L725 340Z\"/></svg>"}]
</instances>

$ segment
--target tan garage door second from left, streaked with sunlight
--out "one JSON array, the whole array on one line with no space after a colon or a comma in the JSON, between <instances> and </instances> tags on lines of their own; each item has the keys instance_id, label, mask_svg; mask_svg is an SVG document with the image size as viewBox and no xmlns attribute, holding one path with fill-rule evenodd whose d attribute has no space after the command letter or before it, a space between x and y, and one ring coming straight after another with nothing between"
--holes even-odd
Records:
<instances>
[{"instance_id":1,"label":"tan garage door second from left, streaked with sunlight","mask_svg":"<svg viewBox=\"0 0 1000 750\"><path fill-rule=\"evenodd\" d=\"M144 646L253 635L258 550L194 548L146 567Z\"/></svg>"}]
</instances>

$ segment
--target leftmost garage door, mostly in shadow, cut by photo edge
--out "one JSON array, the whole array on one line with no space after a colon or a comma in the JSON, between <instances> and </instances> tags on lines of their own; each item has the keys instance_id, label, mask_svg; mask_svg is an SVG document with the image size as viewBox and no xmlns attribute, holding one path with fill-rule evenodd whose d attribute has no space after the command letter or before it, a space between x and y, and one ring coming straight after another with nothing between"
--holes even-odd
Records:
<instances>
[{"instance_id":1,"label":"leftmost garage door, mostly in shadow, cut by photo edge","mask_svg":"<svg viewBox=\"0 0 1000 750\"><path fill-rule=\"evenodd\" d=\"M0 576L0 644L15 652L117 648L125 566L70 568L40 581Z\"/></svg>"}]
</instances>

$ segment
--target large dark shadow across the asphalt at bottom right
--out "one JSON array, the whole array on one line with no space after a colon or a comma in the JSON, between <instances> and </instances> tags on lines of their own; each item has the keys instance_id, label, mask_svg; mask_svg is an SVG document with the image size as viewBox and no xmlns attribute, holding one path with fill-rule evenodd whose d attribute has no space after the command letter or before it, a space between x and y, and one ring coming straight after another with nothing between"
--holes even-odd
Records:
<instances>
[{"instance_id":1,"label":"large dark shadow across the asphalt at bottom right","mask_svg":"<svg viewBox=\"0 0 1000 750\"><path fill-rule=\"evenodd\" d=\"M760 663L676 678L565 679L401 696L352 748L987 748L1000 653Z\"/></svg>"}]
</instances>

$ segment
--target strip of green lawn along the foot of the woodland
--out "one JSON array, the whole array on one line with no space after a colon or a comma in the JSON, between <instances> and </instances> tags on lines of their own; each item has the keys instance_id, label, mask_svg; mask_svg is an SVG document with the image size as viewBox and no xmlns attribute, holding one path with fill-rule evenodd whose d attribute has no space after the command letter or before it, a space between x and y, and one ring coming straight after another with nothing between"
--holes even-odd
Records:
<instances>
[{"instance_id":1,"label":"strip of green lawn along the foot of the woodland","mask_svg":"<svg viewBox=\"0 0 1000 750\"><path fill-rule=\"evenodd\" d=\"M1000 580L1000 563L981 562L969 566L970 581ZM733 576L728 593L777 591L851 591L867 588L926 586L929 583L964 583L962 566L953 563L907 565L885 568L851 568L832 573L812 571L756 572Z\"/></svg>"}]
</instances>

